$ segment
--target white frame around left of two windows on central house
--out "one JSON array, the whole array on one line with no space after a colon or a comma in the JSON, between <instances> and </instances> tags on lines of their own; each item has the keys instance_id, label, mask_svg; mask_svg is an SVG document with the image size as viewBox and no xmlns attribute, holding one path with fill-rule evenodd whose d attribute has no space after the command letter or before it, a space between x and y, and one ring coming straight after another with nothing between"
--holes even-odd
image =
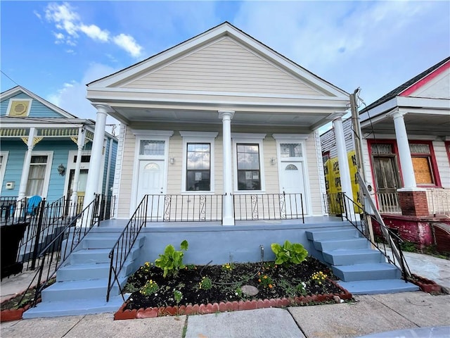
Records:
<instances>
[{"instance_id":1,"label":"white frame around left of two windows on central house","mask_svg":"<svg viewBox=\"0 0 450 338\"><path fill-rule=\"evenodd\" d=\"M219 134L218 132L179 132L181 137L183 138L183 162L182 162L182 170L183 174L181 175L181 194L199 194L199 195L208 195L214 194L215 191L215 161L214 161L214 141ZM210 190L199 190L199 191L188 191L186 190L186 175L187 175L187 153L188 153L188 143L209 143L210 146Z\"/></svg>"}]
</instances>

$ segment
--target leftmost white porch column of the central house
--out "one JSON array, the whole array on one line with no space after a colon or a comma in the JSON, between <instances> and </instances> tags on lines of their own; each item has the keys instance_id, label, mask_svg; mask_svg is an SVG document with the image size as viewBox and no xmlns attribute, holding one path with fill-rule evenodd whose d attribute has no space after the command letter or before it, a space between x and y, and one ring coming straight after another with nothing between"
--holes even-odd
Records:
<instances>
[{"instance_id":1,"label":"leftmost white porch column of the central house","mask_svg":"<svg viewBox=\"0 0 450 338\"><path fill-rule=\"evenodd\" d=\"M94 141L92 142L91 161L87 174L83 208L86 208L91 201L94 201L95 194L98 193L98 180L102 179L100 173L103 165L101 163L103 158L103 139L105 138L106 115L110 111L110 107L99 104L96 108L96 129L94 131Z\"/></svg>"}]
</instances>

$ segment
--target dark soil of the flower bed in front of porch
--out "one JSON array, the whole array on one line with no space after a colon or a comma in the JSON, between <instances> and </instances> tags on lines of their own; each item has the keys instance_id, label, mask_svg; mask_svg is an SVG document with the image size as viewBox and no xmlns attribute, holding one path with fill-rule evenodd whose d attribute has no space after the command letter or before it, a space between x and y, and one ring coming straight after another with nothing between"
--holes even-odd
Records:
<instances>
[{"instance_id":1,"label":"dark soil of the flower bed in front of porch","mask_svg":"<svg viewBox=\"0 0 450 338\"><path fill-rule=\"evenodd\" d=\"M312 275L322 272L328 278L314 281ZM266 276L264 278L264 276ZM200 287L203 277L212 281L210 289L207 285ZM176 306L201 303L219 303L221 301L240 301L247 299L277 299L313 294L336 294L341 289L330 282L333 278L326 265L315 258L289 268L265 263L232 263L231 265L188 265L175 277L162 277L162 270L153 265L144 265L129 277L125 292L132 292L126 308L139 309L162 306ZM158 284L158 291L142 294L141 288L153 280ZM261 281L261 282L259 282ZM303 282L303 283L302 283ZM256 296L242 292L244 285L257 287ZM244 288L245 289L245 288ZM181 301L177 303L174 290L181 292ZM145 293L145 292L144 292Z\"/></svg>"}]
</instances>

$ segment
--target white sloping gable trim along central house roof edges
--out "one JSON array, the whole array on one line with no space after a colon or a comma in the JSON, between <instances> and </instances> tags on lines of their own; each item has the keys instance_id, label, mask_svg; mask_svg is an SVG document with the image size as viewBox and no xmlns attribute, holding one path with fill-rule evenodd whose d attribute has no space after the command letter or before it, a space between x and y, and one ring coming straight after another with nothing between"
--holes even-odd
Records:
<instances>
[{"instance_id":1,"label":"white sloping gable trim along central house roof edges","mask_svg":"<svg viewBox=\"0 0 450 338\"><path fill-rule=\"evenodd\" d=\"M288 70L290 73L293 73L299 77L302 77L304 80L313 84L316 87L321 88L323 91L329 93L331 96L349 96L347 92L344 90L335 87L330 82L323 80L321 77L314 75L302 68L297 63L291 61L285 56L279 54L278 52L271 49L269 46L262 44L257 39L251 37L247 33L239 30L237 27L231 25L229 22L221 23L216 27L212 27L210 30L201 33L191 39L188 39L176 46L173 46L165 51L162 51L146 60L143 60L134 65L130 65L123 70L120 70L116 73L108 75L106 77L102 77L101 79L95 80L93 82L89 82L86 84L87 87L115 87L120 83L127 81L130 77L136 76L137 74L141 74L152 67L157 67L158 65L162 65L169 61L174 60L182 54L187 54L194 49L198 49L200 46L208 44L214 40L217 40L221 37L231 37L236 41L240 42L244 46L248 47L252 51L257 52L258 54L263 55L268 58L270 61L273 61L277 65L280 65L283 69Z\"/></svg>"}]
</instances>

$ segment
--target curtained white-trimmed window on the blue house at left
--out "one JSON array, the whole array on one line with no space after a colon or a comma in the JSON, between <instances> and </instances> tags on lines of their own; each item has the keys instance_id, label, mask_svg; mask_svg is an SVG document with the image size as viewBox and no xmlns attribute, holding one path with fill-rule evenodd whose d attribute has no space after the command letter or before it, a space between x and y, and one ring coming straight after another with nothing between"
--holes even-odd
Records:
<instances>
[{"instance_id":1,"label":"curtained white-trimmed window on the blue house at left","mask_svg":"<svg viewBox=\"0 0 450 338\"><path fill-rule=\"evenodd\" d=\"M50 154L34 154L31 156L30 171L27 179L26 196L45 196L49 184Z\"/></svg>"}]
</instances>

